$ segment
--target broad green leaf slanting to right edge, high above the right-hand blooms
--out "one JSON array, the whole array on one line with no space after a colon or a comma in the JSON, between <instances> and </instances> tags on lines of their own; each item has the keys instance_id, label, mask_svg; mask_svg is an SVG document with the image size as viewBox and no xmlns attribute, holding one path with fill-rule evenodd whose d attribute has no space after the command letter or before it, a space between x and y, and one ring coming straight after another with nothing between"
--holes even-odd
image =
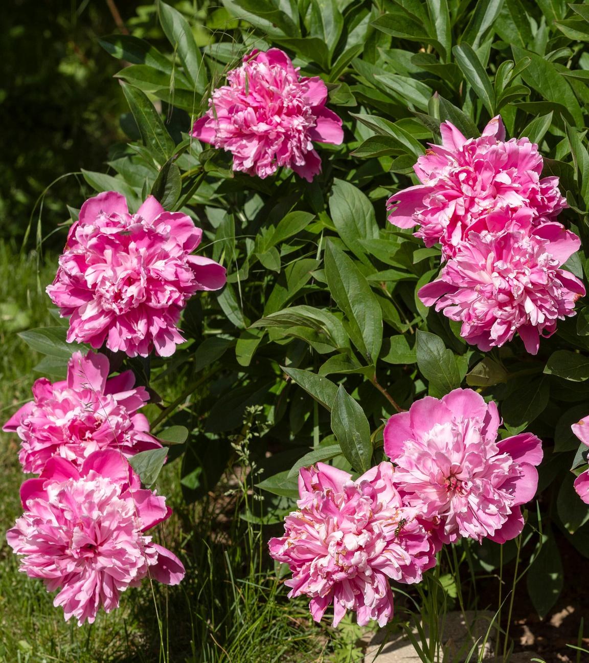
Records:
<instances>
[{"instance_id":1,"label":"broad green leaf slanting to right edge, high above the right-hand blooms","mask_svg":"<svg viewBox=\"0 0 589 663\"><path fill-rule=\"evenodd\" d=\"M523 81L533 90L539 92L547 101L564 105L570 111L574 124L577 127L582 127L584 121L579 103L566 80L559 74L557 67L542 56L523 50L523 48L511 46L511 50L515 60L521 60L526 56L531 58L530 65L521 72Z\"/></svg>"}]
</instances>

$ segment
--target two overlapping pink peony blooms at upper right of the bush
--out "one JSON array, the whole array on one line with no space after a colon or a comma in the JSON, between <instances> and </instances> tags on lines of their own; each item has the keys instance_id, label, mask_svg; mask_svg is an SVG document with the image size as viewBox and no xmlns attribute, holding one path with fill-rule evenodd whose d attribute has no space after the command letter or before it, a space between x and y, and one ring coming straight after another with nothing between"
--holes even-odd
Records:
<instances>
[{"instance_id":1,"label":"two overlapping pink peony blooms at upper right of the bush","mask_svg":"<svg viewBox=\"0 0 589 663\"><path fill-rule=\"evenodd\" d=\"M582 282L561 269L580 240L555 221L566 207L556 177L541 178L543 158L527 138L505 140L499 116L466 139L441 124L414 166L421 182L388 201L389 220L426 246L440 243L439 278L419 290L427 306L462 322L461 335L483 351L518 333L531 354L557 320L574 315Z\"/></svg>"}]
</instances>

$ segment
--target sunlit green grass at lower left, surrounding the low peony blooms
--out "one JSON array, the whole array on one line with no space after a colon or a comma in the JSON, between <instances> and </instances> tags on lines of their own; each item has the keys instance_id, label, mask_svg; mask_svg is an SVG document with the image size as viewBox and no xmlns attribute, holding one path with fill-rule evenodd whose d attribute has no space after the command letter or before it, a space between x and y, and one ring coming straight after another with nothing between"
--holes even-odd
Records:
<instances>
[{"instance_id":1,"label":"sunlit green grass at lower left, surrounding the low peony blooms","mask_svg":"<svg viewBox=\"0 0 589 663\"><path fill-rule=\"evenodd\" d=\"M42 359L18 331L54 326L44 286L56 259L38 265L34 253L0 243L0 418L30 398ZM163 387L166 402L184 385ZM152 412L153 410L151 410ZM150 410L148 410L149 414ZM179 554L186 578L178 587L145 582L121 597L121 607L100 613L93 625L64 621L62 609L39 580L18 571L5 530L21 513L18 438L0 433L0 663L352 663L360 630L345 620L335 632L311 621L306 601L287 601L266 551L268 532L242 520L252 499L247 450L214 495L187 505L180 489L180 461L164 467L158 490L174 515L156 538ZM240 464L241 463L241 464Z\"/></svg>"}]
</instances>

